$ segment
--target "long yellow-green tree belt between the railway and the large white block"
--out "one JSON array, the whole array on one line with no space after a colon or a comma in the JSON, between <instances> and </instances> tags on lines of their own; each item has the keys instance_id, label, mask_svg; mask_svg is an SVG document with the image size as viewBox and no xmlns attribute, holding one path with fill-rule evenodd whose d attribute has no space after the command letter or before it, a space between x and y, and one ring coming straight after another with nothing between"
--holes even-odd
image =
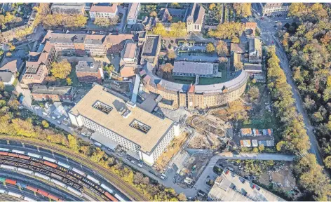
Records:
<instances>
[{"instance_id":1,"label":"long yellow-green tree belt between the railway and the large white block","mask_svg":"<svg viewBox=\"0 0 331 202\"><path fill-rule=\"evenodd\" d=\"M4 90L4 83L0 82L0 134L28 137L34 140L59 144L71 149L72 152L86 155L91 161L109 169L128 184L136 187L149 201L186 201L184 194L177 194L174 189L163 187L156 182L151 183L149 177L133 171L121 161L109 157L99 148L84 142L74 135L65 134L50 127L49 123L41 120L31 112L22 109L18 111L19 102L15 95Z\"/></svg>"}]
</instances>

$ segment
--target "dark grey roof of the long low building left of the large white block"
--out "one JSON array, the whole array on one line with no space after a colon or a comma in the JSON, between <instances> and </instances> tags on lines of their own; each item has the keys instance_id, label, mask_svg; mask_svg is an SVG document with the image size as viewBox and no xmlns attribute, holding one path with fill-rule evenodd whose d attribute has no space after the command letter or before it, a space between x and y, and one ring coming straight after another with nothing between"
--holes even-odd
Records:
<instances>
[{"instance_id":1,"label":"dark grey roof of the long low building left of the large white block","mask_svg":"<svg viewBox=\"0 0 331 202\"><path fill-rule=\"evenodd\" d=\"M72 91L72 87L70 86L34 85L32 86L31 93L48 94L48 95L69 95L71 91Z\"/></svg>"}]
</instances>

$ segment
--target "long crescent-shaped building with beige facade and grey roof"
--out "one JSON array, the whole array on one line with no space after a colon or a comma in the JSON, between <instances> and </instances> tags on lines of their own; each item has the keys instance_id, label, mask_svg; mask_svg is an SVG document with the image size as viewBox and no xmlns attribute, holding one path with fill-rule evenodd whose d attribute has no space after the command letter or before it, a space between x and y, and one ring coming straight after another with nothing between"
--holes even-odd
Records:
<instances>
[{"instance_id":1,"label":"long crescent-shaped building with beige facade and grey roof","mask_svg":"<svg viewBox=\"0 0 331 202\"><path fill-rule=\"evenodd\" d=\"M248 80L248 74L241 71L234 76L234 79L224 83L189 85L166 81L153 72L154 66L149 63L144 65L144 71L140 72L145 89L161 95L165 100L172 101L173 106L189 109L217 107L234 101L245 92Z\"/></svg>"}]
</instances>

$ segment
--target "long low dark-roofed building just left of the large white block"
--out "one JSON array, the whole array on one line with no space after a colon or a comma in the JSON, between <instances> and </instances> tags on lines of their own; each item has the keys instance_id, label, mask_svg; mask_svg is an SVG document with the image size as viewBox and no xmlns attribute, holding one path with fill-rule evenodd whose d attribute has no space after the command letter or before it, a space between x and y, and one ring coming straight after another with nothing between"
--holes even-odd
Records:
<instances>
[{"instance_id":1,"label":"long low dark-roofed building just left of the large white block","mask_svg":"<svg viewBox=\"0 0 331 202\"><path fill-rule=\"evenodd\" d=\"M74 96L73 92L71 86L33 85L31 95L36 101L70 102Z\"/></svg>"}]
</instances>

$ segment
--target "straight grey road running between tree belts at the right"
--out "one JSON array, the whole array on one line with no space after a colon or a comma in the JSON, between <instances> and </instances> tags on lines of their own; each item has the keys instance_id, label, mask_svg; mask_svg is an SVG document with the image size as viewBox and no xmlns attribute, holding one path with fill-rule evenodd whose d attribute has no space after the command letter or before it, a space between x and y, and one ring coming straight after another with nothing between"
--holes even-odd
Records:
<instances>
[{"instance_id":1,"label":"straight grey road running between tree belts at the right","mask_svg":"<svg viewBox=\"0 0 331 202\"><path fill-rule=\"evenodd\" d=\"M278 55L279 60L281 61L281 68L284 70L286 79L290 86L292 87L292 93L293 98L295 98L295 105L297 107L297 112L301 114L304 118L304 126L306 128L307 135L309 136L309 141L311 142L311 149L309 149L309 152L311 154L316 155L316 159L320 165L323 166L323 157L320 154L320 148L318 146L318 142L316 140L316 136L313 133L313 126L311 126L311 122L309 121L309 117L306 113L306 110L304 110L304 105L302 102L302 97L299 94L299 91L297 89L297 86L295 85L295 82L292 79L292 72L288 63L288 58L286 56L285 50L281 46L281 43L276 38L276 28L273 27L273 19L270 19L266 16L264 16L264 20L261 20L257 15L255 15L256 18L252 18L255 22L257 22L257 25L261 29L261 39L266 43L267 46L275 45L276 46L276 54ZM292 19L280 19L277 18L276 20L279 20L285 25L287 22L292 22Z\"/></svg>"}]
</instances>

